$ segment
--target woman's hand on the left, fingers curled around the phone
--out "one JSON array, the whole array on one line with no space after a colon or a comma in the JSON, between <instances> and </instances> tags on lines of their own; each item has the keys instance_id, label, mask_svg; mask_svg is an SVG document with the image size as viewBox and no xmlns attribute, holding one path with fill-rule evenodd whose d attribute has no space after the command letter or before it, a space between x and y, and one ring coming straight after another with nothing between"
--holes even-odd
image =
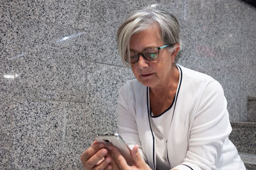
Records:
<instances>
[{"instance_id":1,"label":"woman's hand on the left, fingers curled around the phone","mask_svg":"<svg viewBox=\"0 0 256 170\"><path fill-rule=\"evenodd\" d=\"M94 141L92 146L88 148L81 155L81 161L84 169L112 169L113 166L110 164L113 159L108 155L108 150L104 148L104 143L97 143Z\"/></svg>"}]
</instances>

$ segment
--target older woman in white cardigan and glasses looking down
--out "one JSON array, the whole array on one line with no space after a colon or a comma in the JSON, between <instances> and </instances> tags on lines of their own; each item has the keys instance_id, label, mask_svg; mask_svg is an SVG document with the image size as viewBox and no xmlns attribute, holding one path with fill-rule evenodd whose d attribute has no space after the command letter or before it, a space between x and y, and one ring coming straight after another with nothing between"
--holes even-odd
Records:
<instances>
[{"instance_id":1,"label":"older woman in white cardigan and glasses looking down","mask_svg":"<svg viewBox=\"0 0 256 170\"><path fill-rule=\"evenodd\" d=\"M119 27L118 52L136 80L119 91L118 130L134 165L94 142L81 156L86 169L245 169L228 139L220 83L176 64L179 32L177 19L154 7L132 12Z\"/></svg>"}]
</instances>

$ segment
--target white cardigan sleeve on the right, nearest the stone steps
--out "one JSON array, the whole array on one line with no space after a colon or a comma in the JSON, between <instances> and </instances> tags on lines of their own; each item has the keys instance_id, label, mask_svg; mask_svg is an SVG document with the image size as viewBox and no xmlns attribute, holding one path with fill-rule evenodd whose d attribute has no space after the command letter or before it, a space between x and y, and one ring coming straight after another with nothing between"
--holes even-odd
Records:
<instances>
[{"instance_id":1,"label":"white cardigan sleeve on the right, nearest the stone steps","mask_svg":"<svg viewBox=\"0 0 256 170\"><path fill-rule=\"evenodd\" d=\"M186 158L173 169L216 169L231 131L223 89L218 81L211 81L196 109Z\"/></svg>"}]
</instances>

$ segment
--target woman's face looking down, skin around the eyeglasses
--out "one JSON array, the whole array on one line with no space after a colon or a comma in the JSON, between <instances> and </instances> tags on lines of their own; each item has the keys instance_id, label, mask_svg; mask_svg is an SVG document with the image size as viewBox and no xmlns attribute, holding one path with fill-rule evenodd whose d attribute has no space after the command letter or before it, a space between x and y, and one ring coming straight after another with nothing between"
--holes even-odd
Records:
<instances>
[{"instance_id":1,"label":"woman's face looking down, skin around the eyeglasses","mask_svg":"<svg viewBox=\"0 0 256 170\"><path fill-rule=\"evenodd\" d=\"M160 30L157 26L133 34L130 41L130 49L143 52L148 47L163 46ZM142 55L138 62L131 64L134 76L143 85L150 88L165 87L170 82L175 53L162 48L159 57L154 61L145 60ZM166 84L167 83L167 84Z\"/></svg>"}]
</instances>

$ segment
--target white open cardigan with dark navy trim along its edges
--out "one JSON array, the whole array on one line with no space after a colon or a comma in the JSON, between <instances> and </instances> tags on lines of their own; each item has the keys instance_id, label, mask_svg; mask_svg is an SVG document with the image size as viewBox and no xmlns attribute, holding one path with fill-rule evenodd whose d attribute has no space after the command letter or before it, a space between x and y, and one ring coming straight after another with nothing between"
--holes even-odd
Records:
<instances>
[{"instance_id":1,"label":"white open cardigan with dark navy trim along its edges","mask_svg":"<svg viewBox=\"0 0 256 170\"><path fill-rule=\"evenodd\" d=\"M180 86L167 142L164 147L175 169L245 169L236 147L228 139L232 131L223 89L206 74L180 67ZM156 169L156 136L150 122L147 87L128 81L118 96L118 129L132 148ZM161 146L157 146L161 147ZM161 149L162 149L161 147ZM165 149L166 148L166 149Z\"/></svg>"}]
</instances>

